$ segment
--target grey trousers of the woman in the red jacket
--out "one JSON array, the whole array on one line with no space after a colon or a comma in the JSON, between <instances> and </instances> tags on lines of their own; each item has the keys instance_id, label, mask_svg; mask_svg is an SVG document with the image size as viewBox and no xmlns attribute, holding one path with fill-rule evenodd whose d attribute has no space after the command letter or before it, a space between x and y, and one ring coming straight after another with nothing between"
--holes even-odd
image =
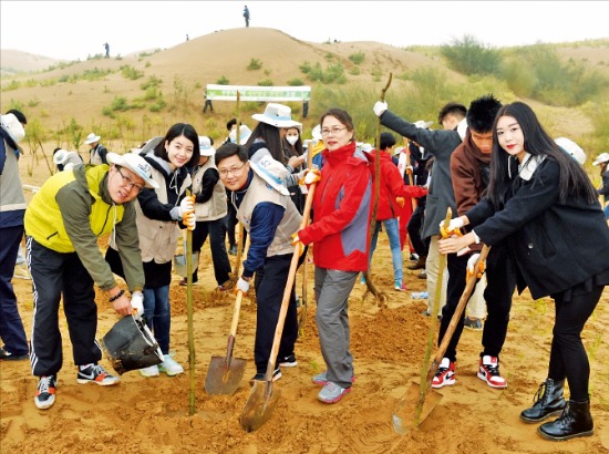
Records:
<instances>
[{"instance_id":1,"label":"grey trousers of the woman in the red jacket","mask_svg":"<svg viewBox=\"0 0 609 454\"><path fill-rule=\"evenodd\" d=\"M359 272L316 267L316 321L328 381L350 388L353 355L350 351L349 295Z\"/></svg>"}]
</instances>

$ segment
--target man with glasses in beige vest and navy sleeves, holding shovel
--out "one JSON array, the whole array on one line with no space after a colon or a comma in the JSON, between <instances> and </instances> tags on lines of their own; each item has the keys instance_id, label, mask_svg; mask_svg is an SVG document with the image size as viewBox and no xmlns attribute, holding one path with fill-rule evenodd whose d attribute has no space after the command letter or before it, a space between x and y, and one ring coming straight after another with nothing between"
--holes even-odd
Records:
<instances>
[{"instance_id":1,"label":"man with glasses in beige vest and navy sleeves, holding shovel","mask_svg":"<svg viewBox=\"0 0 609 454\"><path fill-rule=\"evenodd\" d=\"M236 291L247 293L256 274L256 375L252 380L264 381L295 249L291 234L298 231L301 216L289 190L276 176L281 168L285 172L285 167L270 155L264 156L258 163L248 162L246 148L229 143L216 151L216 167L221 182L230 192L230 200L237 208L237 219L250 238ZM281 378L280 365L297 365L293 351L297 337L296 293L292 289L275 361L273 381Z\"/></svg>"}]
</instances>

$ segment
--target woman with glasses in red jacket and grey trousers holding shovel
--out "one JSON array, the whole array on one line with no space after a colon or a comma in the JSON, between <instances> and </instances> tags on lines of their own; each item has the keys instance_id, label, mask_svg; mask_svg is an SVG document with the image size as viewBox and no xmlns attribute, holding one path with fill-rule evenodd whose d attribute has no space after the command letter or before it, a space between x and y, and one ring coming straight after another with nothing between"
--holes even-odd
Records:
<instances>
[{"instance_id":1,"label":"woman with glasses in red jacket and grey trousers holding shovel","mask_svg":"<svg viewBox=\"0 0 609 454\"><path fill-rule=\"evenodd\" d=\"M318 399L334 403L351 390L348 300L355 279L368 268L372 175L363 152L355 149L353 121L343 110L321 116L326 164L313 198L313 223L298 233L313 244L316 321L327 371L313 376L323 385Z\"/></svg>"}]
</instances>

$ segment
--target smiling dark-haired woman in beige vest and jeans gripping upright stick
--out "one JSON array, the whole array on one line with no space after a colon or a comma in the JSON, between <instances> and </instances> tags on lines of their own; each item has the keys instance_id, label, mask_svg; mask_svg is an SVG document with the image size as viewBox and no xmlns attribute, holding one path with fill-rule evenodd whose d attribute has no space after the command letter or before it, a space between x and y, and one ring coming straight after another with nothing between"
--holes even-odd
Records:
<instances>
[{"instance_id":1,"label":"smiling dark-haired woman in beige vest and jeans gripping upright stick","mask_svg":"<svg viewBox=\"0 0 609 454\"><path fill-rule=\"evenodd\" d=\"M164 137L151 140L141 152L155 182L154 190L144 189L137 195L136 204L137 234L145 275L144 318L164 355L164 361L158 367L151 365L140 370L146 378L158 376L159 372L167 375L184 372L184 368L174 360L174 353L169 350L169 286L179 229L194 230L196 226L195 197L187 196L186 189L192 185L190 172L199 161L199 153L198 134L187 123L174 124ZM109 246L106 260L114 272L121 276L118 258L122 251L113 238Z\"/></svg>"}]
</instances>

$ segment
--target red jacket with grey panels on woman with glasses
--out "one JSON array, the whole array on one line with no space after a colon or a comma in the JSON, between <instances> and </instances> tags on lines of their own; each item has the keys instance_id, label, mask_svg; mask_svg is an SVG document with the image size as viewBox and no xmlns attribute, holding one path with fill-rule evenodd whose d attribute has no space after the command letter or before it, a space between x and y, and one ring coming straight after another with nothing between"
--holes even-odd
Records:
<instances>
[{"instance_id":1,"label":"red jacket with grey panels on woman with glasses","mask_svg":"<svg viewBox=\"0 0 609 454\"><path fill-rule=\"evenodd\" d=\"M316 266L342 271L368 269L372 176L363 152L350 142L334 152L324 149L313 198L313 223L299 231L313 244Z\"/></svg>"}]
</instances>

